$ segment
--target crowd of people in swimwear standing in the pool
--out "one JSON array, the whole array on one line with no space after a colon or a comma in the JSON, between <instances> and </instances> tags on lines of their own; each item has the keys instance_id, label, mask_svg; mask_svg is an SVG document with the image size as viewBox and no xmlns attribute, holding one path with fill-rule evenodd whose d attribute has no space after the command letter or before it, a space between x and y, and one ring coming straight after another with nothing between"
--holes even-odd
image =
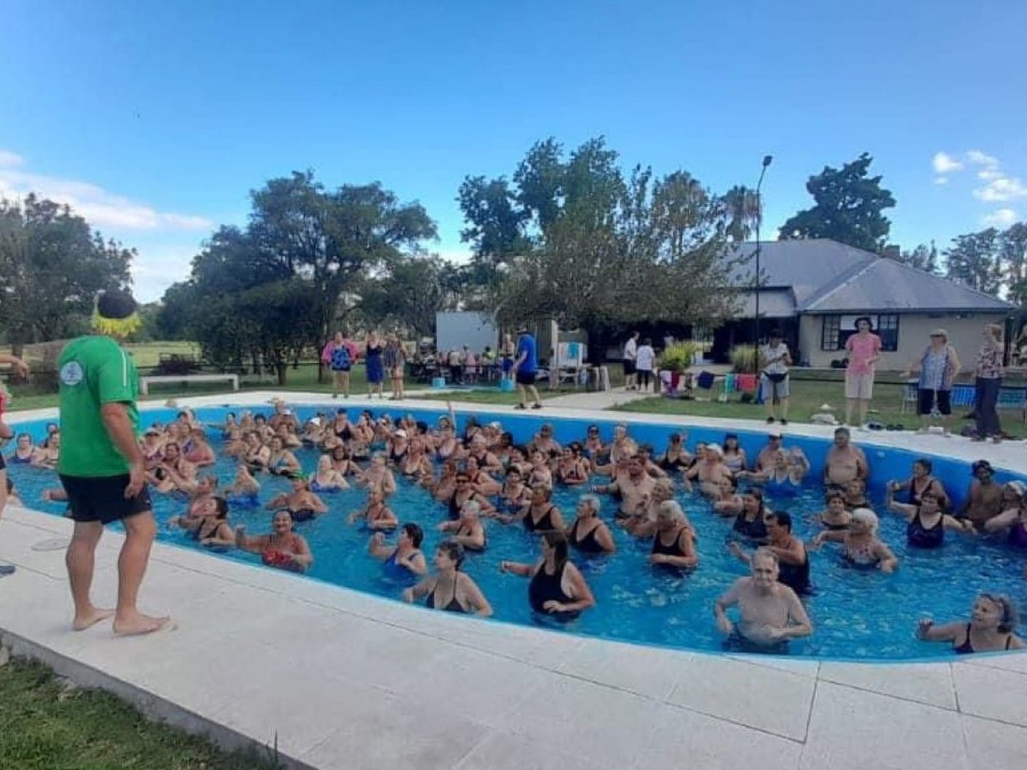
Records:
<instances>
[{"instance_id":1,"label":"crowd of people in swimwear standing in the pool","mask_svg":"<svg viewBox=\"0 0 1027 770\"><path fill-rule=\"evenodd\" d=\"M598 426L589 426L580 440L561 446L549 425L518 445L498 422L469 418L465 423L459 430L452 408L435 426L410 416L376 418L371 411L353 416L344 409L301 423L277 401L270 416L228 413L217 426L182 410L175 420L149 427L141 446L151 488L189 501L173 526L205 546L241 548L260 554L270 567L296 572L310 568L313 554L295 525L327 513L324 496L350 486L365 489L366 505L348 521L371 533L368 552L390 574L413 583L404 591L407 601L423 599L429 608L451 612L492 614L488 598L461 570L467 552L487 549L487 525L517 525L538 535L535 562L502 561L497 567L526 578L531 608L557 619L573 619L596 604L571 554L616 557L611 526L649 540L649 562L657 569L701 569L696 528L675 499L679 488L697 490L715 514L732 521L727 548L749 565L750 576L731 585L714 608L718 627L734 644L779 649L787 640L812 632L803 605L812 582L809 554L826 544L837 544L840 557L858 569L889 573L899 567L878 535L878 515L866 496L869 463L846 428L835 431L825 458L821 531L803 542L793 534L788 511L767 507L767 496L798 494L810 484L809 460L799 448L787 448L777 430L771 429L766 446L750 458L730 433L723 444L699 442L691 451L685 433L673 433L656 454L639 446L624 425L615 427L609 444ZM210 472L218 459L207 439L211 430L220 432L223 453L237 460L235 477L225 487ZM52 468L60 439L55 424L38 446L30 435L18 434L7 462ZM320 453L309 474L295 454L304 447ZM291 489L262 503L261 486L268 475L289 478ZM887 484L885 507L907 519L910 547L937 548L948 537L984 536L1003 537L1027 553L1027 487L996 483L983 460L974 463L973 475L958 507L933 475L929 460L917 460L909 477ZM420 547L421 527L402 522L389 507L397 476L427 490L446 510L438 529L447 537L430 566ZM596 484L597 477L602 483ZM557 486L582 491L573 517L565 518L551 502ZM610 523L600 515L601 496L607 495L617 508ZM66 499L61 488L44 497ZM231 509L258 507L273 511L269 533L250 535L230 525ZM737 621L728 614L735 606ZM1007 596L982 594L969 622L924 620L916 634L948 642L961 653L1018 649L1024 643L1015 633L1017 622Z\"/></svg>"}]
</instances>

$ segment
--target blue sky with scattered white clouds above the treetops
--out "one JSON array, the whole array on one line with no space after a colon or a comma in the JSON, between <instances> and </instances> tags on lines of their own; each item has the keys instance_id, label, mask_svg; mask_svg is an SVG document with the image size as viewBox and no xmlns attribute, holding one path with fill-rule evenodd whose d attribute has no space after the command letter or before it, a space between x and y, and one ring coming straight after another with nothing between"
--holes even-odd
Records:
<instances>
[{"instance_id":1,"label":"blue sky with scattered white clouds above the treetops","mask_svg":"<svg viewBox=\"0 0 1027 770\"><path fill-rule=\"evenodd\" d=\"M625 166L718 192L771 153L768 234L863 151L905 247L1027 217L1015 0L4 5L0 193L137 246L145 300L251 189L307 167L420 200L461 258L462 178L508 176L548 136L605 134Z\"/></svg>"}]
</instances>

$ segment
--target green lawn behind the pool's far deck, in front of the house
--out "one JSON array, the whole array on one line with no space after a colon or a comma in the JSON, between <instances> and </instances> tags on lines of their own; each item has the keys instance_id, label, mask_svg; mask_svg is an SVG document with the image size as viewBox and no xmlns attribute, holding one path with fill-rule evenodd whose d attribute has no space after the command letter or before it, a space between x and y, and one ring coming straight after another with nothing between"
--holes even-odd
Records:
<instances>
[{"instance_id":1,"label":"green lawn behind the pool's far deck, in front of the house","mask_svg":"<svg viewBox=\"0 0 1027 770\"><path fill-rule=\"evenodd\" d=\"M697 390L701 395L703 391ZM712 392L716 398L717 389ZM918 418L914 411L901 412L903 386L899 384L877 383L874 385L874 400L871 403L872 412L869 419L884 423L885 425L901 424L907 429L915 428L919 425ZM792 380L792 397L789 411L789 420L794 422L809 422L810 416L821 411L822 405L830 405L834 409L834 415L841 421L845 416L845 398L842 382L820 382L795 378ZM912 406L912 405L911 405ZM675 398L664 398L654 396L644 398L631 403L625 403L616 408L620 412L642 412L655 415L697 415L699 417L725 417L739 420L761 420L766 416L762 406L756 403L741 403L738 400L730 400L721 403L717 400L681 400ZM971 425L969 421L959 419L968 412L967 409L953 409L953 428L956 432L963 425ZM1023 421L1023 415L1012 410L1000 411L999 417L1002 421L1002 429L1006 433L1019 438L1027 437L1027 426Z\"/></svg>"}]
</instances>

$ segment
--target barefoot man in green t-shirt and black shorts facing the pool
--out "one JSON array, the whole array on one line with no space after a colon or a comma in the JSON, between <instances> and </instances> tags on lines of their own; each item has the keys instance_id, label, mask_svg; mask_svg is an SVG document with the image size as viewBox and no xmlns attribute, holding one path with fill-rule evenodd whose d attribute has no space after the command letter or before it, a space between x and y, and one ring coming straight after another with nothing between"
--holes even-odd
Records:
<instances>
[{"instance_id":1,"label":"barefoot man in green t-shirt and black shorts facing the pool","mask_svg":"<svg viewBox=\"0 0 1027 770\"><path fill-rule=\"evenodd\" d=\"M75 532L68 546L68 576L75 600L72 627L83 630L114 616L114 632L149 633L168 618L144 615L136 606L157 525L146 488L140 449L139 373L112 337L139 325L136 301L105 292L97 301L96 334L69 342L58 359L61 378L61 457L58 472L68 493ZM110 335L110 336L108 336ZM113 611L92 604L89 589L104 525L121 521L125 542L118 559L118 603Z\"/></svg>"}]
</instances>

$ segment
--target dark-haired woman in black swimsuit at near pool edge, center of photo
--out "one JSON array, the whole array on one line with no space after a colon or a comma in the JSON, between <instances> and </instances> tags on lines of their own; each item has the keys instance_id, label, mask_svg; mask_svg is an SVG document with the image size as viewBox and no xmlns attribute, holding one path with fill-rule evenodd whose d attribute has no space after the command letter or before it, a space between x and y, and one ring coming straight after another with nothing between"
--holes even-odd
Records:
<instances>
[{"instance_id":1,"label":"dark-haired woman in black swimsuit at near pool edge, center of photo","mask_svg":"<svg viewBox=\"0 0 1027 770\"><path fill-rule=\"evenodd\" d=\"M567 551L567 536L549 531L542 536L542 557L537 563L500 562L499 571L531 578L528 603L535 612L572 620L594 607L596 598Z\"/></svg>"}]
</instances>

